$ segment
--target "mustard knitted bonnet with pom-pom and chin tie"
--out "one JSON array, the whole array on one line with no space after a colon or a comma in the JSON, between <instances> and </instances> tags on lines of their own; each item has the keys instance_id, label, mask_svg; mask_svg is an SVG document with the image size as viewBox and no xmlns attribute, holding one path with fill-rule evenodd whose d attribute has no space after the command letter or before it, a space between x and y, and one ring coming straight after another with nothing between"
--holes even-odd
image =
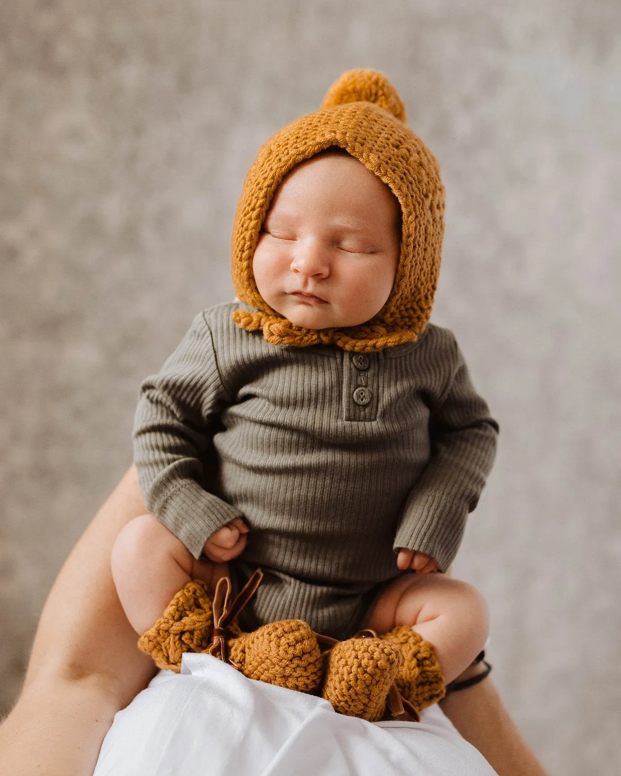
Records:
<instances>
[{"instance_id":1,"label":"mustard knitted bonnet with pom-pom and chin tie","mask_svg":"<svg viewBox=\"0 0 621 776\"><path fill-rule=\"evenodd\" d=\"M233 320L262 330L273 345L330 345L378 351L415 341L432 311L444 233L444 189L438 162L406 125L397 90L381 73L351 70L328 89L316 113L271 137L248 171L235 214L231 265L238 298L254 312ZM393 288L373 318L342 329L306 329L272 310L258 293L252 258L265 216L283 178L300 162L329 147L345 149L384 183L401 205L401 255Z\"/></svg>"}]
</instances>

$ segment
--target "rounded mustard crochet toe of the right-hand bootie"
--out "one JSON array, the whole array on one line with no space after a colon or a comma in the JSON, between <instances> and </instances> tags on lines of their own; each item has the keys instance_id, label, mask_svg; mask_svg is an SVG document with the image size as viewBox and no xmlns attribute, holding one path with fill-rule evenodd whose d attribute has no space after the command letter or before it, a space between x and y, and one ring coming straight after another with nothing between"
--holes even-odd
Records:
<instances>
[{"instance_id":1,"label":"rounded mustard crochet toe of the right-hand bootie","mask_svg":"<svg viewBox=\"0 0 621 776\"><path fill-rule=\"evenodd\" d=\"M355 636L338 642L328 654L321 695L339 714L377 722L402 662L399 646L387 639Z\"/></svg>"}]
</instances>

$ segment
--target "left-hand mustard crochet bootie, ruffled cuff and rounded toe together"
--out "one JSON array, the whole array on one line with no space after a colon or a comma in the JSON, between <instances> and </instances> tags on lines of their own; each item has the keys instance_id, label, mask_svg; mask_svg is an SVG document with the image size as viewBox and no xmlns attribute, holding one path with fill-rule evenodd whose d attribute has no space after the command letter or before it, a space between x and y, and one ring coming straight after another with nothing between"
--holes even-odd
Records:
<instances>
[{"instance_id":1,"label":"left-hand mustard crochet bootie, ruffled cuff and rounded toe together","mask_svg":"<svg viewBox=\"0 0 621 776\"><path fill-rule=\"evenodd\" d=\"M202 580L192 580L138 639L138 647L151 655L158 668L179 673L183 653L210 651L213 625L207 586ZM314 632L302 620L270 622L251 633L241 632L237 622L231 622L224 643L227 662L249 679L300 692L312 692L321 683L321 650Z\"/></svg>"}]
</instances>

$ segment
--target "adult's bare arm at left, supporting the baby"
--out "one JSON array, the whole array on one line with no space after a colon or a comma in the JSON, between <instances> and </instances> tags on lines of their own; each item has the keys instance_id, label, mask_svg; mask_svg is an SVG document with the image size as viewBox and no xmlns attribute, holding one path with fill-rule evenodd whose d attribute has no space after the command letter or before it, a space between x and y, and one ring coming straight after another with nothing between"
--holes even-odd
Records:
<instances>
[{"instance_id":1,"label":"adult's bare arm at left, supporting the baby","mask_svg":"<svg viewBox=\"0 0 621 776\"><path fill-rule=\"evenodd\" d=\"M36 632L22 695L0 726L11 776L91 776L113 715L154 673L120 606L110 550L144 501L132 466L64 563ZM216 571L216 578L224 566ZM215 581L215 579L214 579Z\"/></svg>"}]
</instances>

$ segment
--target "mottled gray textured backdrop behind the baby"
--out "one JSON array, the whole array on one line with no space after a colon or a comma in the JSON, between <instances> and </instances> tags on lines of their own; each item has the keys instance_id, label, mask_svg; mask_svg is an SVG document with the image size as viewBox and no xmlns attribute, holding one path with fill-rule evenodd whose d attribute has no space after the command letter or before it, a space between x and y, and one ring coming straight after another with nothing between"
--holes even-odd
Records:
<instances>
[{"instance_id":1,"label":"mottled gray textured backdrop behind the baby","mask_svg":"<svg viewBox=\"0 0 621 776\"><path fill-rule=\"evenodd\" d=\"M102 4L104 5L104 4ZM0 6L0 684L130 463L137 385L201 307L258 146L384 71L439 158L434 320L501 423L458 573L552 774L618 774L618 0Z\"/></svg>"}]
</instances>

